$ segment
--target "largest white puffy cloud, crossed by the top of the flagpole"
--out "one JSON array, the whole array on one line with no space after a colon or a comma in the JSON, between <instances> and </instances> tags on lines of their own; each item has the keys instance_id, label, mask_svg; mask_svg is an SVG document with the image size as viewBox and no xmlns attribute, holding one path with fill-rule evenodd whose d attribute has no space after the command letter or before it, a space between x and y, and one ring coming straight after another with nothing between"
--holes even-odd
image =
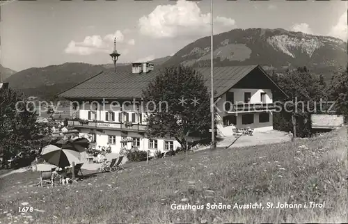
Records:
<instances>
[{"instance_id":1,"label":"largest white puffy cloud, crossed by the top of the flagpole","mask_svg":"<svg viewBox=\"0 0 348 224\"><path fill-rule=\"evenodd\" d=\"M203 14L197 3L178 0L175 5L159 5L149 15L139 19L139 31L152 38L201 37L211 30L210 13ZM214 18L214 33L235 28L235 20Z\"/></svg>"}]
</instances>

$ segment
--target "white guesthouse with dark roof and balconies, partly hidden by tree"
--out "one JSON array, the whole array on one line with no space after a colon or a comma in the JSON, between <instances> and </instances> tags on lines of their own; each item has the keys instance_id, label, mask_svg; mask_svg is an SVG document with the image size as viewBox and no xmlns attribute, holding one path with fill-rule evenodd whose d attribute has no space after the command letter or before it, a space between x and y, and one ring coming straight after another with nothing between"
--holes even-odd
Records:
<instances>
[{"instance_id":1,"label":"white guesthouse with dark roof and balconies, partly hidden by tree","mask_svg":"<svg viewBox=\"0 0 348 224\"><path fill-rule=\"evenodd\" d=\"M209 86L210 67L196 70ZM180 144L174 138L145 136L142 90L158 72L151 63L133 63L117 67L116 72L100 72L57 96L78 105L79 118L68 123L81 133L92 135L97 146L110 145L116 153L122 145L150 151L176 150ZM259 65L214 67L214 92L218 97L216 128L222 136L232 134L232 124L238 128L273 129L273 94L284 94Z\"/></svg>"}]
</instances>

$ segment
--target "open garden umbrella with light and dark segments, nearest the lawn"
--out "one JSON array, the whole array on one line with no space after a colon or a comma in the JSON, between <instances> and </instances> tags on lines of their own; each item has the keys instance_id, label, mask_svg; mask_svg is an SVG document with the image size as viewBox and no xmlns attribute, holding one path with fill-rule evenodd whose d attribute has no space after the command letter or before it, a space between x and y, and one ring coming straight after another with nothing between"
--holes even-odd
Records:
<instances>
[{"instance_id":1,"label":"open garden umbrella with light and dark segments, nearest the lawn","mask_svg":"<svg viewBox=\"0 0 348 224\"><path fill-rule=\"evenodd\" d=\"M41 157L48 163L58 167L70 166L72 162L81 163L81 155L74 150L65 150L56 145L47 145L42 148Z\"/></svg>"}]
</instances>

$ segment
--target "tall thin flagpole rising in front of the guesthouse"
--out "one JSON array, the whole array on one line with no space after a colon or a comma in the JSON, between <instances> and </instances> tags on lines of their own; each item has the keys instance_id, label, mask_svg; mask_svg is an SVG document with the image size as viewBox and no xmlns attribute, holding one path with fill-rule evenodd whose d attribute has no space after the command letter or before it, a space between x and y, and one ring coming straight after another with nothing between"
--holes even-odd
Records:
<instances>
[{"instance_id":1,"label":"tall thin flagpole rising in front of the guesthouse","mask_svg":"<svg viewBox=\"0 0 348 224\"><path fill-rule=\"evenodd\" d=\"M213 0L210 0L210 23L212 26L212 33L210 35L210 75L211 75L211 100L210 100L210 111L212 112L212 150L215 149L215 125L214 125L214 74L213 74L213 59L214 59L214 50L213 50L213 35L214 35L214 19L213 19Z\"/></svg>"}]
</instances>

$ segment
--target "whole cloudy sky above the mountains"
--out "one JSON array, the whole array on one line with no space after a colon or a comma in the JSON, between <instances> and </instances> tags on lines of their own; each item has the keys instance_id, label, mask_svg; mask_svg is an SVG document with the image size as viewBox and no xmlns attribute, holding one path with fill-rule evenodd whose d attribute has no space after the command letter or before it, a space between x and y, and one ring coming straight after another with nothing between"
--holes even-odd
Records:
<instances>
[{"instance_id":1,"label":"whole cloudy sky above the mountains","mask_svg":"<svg viewBox=\"0 0 348 224\"><path fill-rule=\"evenodd\" d=\"M347 1L213 0L214 34L283 28L347 41ZM210 1L1 2L0 64L20 71L66 62L118 63L173 55L211 33Z\"/></svg>"}]
</instances>

